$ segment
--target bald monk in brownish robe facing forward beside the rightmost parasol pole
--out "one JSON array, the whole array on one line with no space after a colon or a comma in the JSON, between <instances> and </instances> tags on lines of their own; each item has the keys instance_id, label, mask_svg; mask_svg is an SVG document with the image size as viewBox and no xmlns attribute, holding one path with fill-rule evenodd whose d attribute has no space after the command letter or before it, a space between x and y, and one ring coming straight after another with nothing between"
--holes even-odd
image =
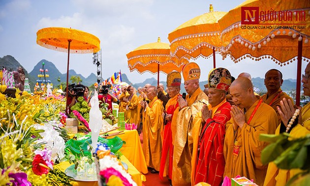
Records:
<instances>
[{"instance_id":1,"label":"bald monk in brownish robe facing forward beside the rightmost parasol pole","mask_svg":"<svg viewBox=\"0 0 310 186\"><path fill-rule=\"evenodd\" d=\"M265 86L267 88L267 93L261 96L263 101L270 105L278 115L278 124L281 123L281 118L277 110L277 106L280 106L280 101L285 97L294 102L293 99L281 90L281 85L283 83L282 73L277 69L268 70L265 74Z\"/></svg>"}]
</instances>

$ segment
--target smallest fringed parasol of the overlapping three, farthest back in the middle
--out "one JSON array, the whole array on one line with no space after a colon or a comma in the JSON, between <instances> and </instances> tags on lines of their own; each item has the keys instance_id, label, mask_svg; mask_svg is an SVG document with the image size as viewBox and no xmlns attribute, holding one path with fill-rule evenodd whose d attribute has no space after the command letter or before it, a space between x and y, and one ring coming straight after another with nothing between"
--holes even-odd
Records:
<instances>
[{"instance_id":1,"label":"smallest fringed parasol of the overlapping three, farthest back in the middle","mask_svg":"<svg viewBox=\"0 0 310 186\"><path fill-rule=\"evenodd\" d=\"M187 58L181 60L176 57L171 58L169 44L160 42L160 37L157 42L142 45L126 56L130 71L157 73L157 85L159 84L159 71L165 74L172 70L181 72L183 65L188 62Z\"/></svg>"}]
</instances>

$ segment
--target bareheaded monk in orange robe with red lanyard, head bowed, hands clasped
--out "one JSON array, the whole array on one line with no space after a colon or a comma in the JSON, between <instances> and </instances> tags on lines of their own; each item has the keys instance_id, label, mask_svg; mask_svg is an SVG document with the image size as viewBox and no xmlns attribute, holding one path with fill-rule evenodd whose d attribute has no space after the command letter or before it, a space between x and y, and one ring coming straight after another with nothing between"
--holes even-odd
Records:
<instances>
[{"instance_id":1,"label":"bareheaded monk in orange robe with red lanyard, head bowed, hands clasped","mask_svg":"<svg viewBox=\"0 0 310 186\"><path fill-rule=\"evenodd\" d=\"M276 111L254 95L248 78L237 78L230 86L230 94L239 108L231 107L232 118L226 123L223 176L245 176L261 186L267 172L267 165L261 162L261 151L267 143L259 141L259 135L275 133Z\"/></svg>"}]
</instances>

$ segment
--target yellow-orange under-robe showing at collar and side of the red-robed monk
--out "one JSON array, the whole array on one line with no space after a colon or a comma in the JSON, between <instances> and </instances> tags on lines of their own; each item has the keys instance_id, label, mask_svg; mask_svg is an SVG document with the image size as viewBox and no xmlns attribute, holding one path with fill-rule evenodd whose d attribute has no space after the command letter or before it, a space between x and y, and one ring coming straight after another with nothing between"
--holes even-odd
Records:
<instances>
[{"instance_id":1,"label":"yellow-orange under-robe showing at collar and side of the red-robed monk","mask_svg":"<svg viewBox=\"0 0 310 186\"><path fill-rule=\"evenodd\" d=\"M218 107L220 107L222 104L224 104L226 102L226 98L220 102L217 106L212 107L211 104L208 104L208 109L212 110L212 115L211 118L214 117L214 114L217 112ZM202 113L201 111L198 112L198 114L195 116L194 118L194 126L193 126L193 154L192 154L192 158L191 158L191 185L194 184L194 176L195 176L195 169L196 169L196 160L197 160L197 152L198 152L198 141L199 141L199 135L201 133L201 129L202 129Z\"/></svg>"}]
</instances>

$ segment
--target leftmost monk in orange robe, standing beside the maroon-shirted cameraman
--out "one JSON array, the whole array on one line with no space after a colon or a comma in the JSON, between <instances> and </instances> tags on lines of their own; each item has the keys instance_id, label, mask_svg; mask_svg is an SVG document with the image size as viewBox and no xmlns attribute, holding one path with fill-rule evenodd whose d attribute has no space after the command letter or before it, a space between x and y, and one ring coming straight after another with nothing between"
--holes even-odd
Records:
<instances>
[{"instance_id":1,"label":"leftmost monk in orange robe, standing beside the maroon-shirted cameraman","mask_svg":"<svg viewBox=\"0 0 310 186\"><path fill-rule=\"evenodd\" d=\"M137 124L139 122L138 118L138 104L139 98L136 93L134 93L134 88L129 86L127 88L127 92L129 93L128 97L124 97L124 103L126 105L125 111L125 120L128 120L129 124Z\"/></svg>"}]
</instances>

